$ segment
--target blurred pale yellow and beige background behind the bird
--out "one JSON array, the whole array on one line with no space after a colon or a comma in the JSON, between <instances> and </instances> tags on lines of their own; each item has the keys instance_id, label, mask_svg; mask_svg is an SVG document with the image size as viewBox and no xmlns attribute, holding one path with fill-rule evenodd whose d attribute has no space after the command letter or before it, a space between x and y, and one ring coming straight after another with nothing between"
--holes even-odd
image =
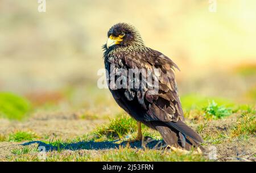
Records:
<instances>
[{"instance_id":1,"label":"blurred pale yellow and beige background behind the bird","mask_svg":"<svg viewBox=\"0 0 256 173\"><path fill-rule=\"evenodd\" d=\"M148 47L180 67L184 108L212 98L255 105L256 2L216 2L211 12L207 0L46 0L46 12L39 12L37 1L0 0L0 112L121 112L97 87L101 46L118 22L134 24Z\"/></svg>"}]
</instances>

